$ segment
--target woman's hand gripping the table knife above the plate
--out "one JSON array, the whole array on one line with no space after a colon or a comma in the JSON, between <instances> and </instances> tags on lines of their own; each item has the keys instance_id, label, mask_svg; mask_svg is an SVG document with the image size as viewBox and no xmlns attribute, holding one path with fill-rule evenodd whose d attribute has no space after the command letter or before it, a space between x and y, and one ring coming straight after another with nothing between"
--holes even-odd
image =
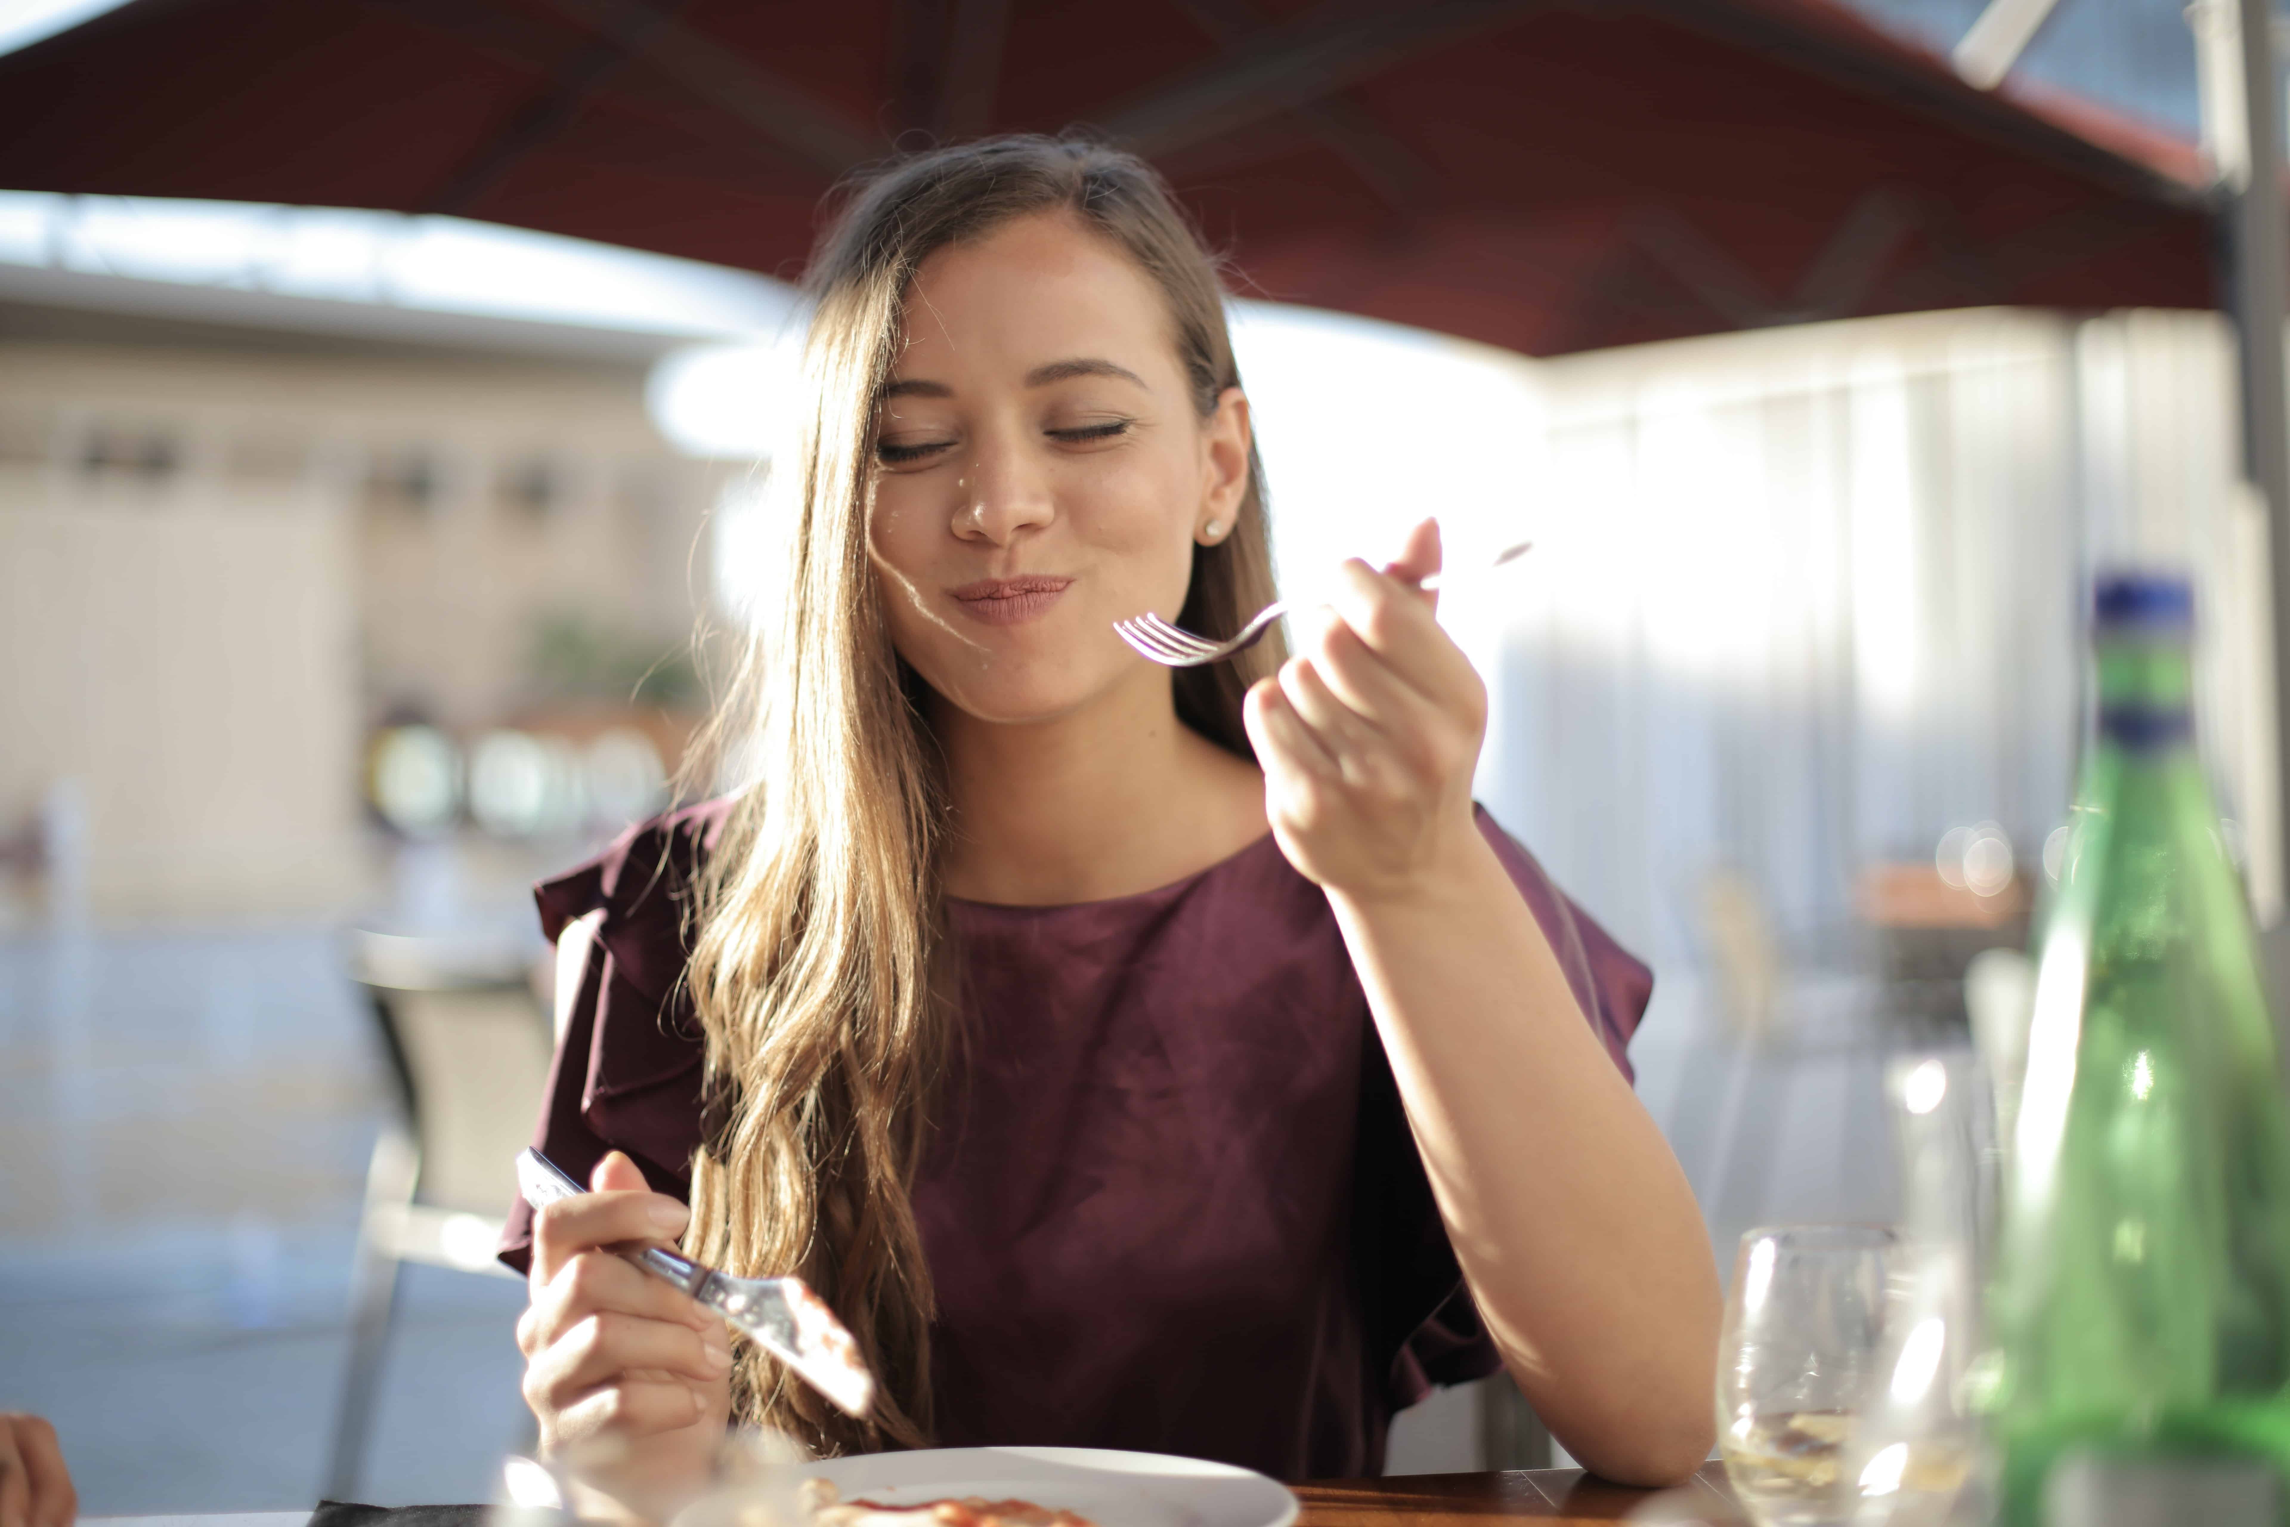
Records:
<instances>
[{"instance_id":1,"label":"woman's hand gripping the table knife above the plate","mask_svg":"<svg viewBox=\"0 0 2290 1527\"><path fill-rule=\"evenodd\" d=\"M518 1319L540 1451L637 1516L662 1520L714 1465L731 1422L731 1332L680 1289L614 1255L676 1243L689 1211L648 1193L621 1152L591 1193L534 1213L531 1303Z\"/></svg>"}]
</instances>

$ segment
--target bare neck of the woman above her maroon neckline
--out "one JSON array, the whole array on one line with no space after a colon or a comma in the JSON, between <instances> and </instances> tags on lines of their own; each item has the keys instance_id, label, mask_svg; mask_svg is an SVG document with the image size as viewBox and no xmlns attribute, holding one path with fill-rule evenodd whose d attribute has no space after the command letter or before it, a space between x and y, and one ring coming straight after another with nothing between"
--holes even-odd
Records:
<instances>
[{"instance_id":1,"label":"bare neck of the woman above her maroon neckline","mask_svg":"<svg viewBox=\"0 0 2290 1527\"><path fill-rule=\"evenodd\" d=\"M1152 891L1264 833L1255 765L1177 721L1168 671L1047 721L980 721L943 701L948 895L1063 907Z\"/></svg>"}]
</instances>

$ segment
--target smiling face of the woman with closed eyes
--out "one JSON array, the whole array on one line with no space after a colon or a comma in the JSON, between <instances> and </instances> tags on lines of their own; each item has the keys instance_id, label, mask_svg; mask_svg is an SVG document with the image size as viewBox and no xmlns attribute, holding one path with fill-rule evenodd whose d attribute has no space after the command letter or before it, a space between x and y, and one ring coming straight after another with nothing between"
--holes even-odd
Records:
<instances>
[{"instance_id":1,"label":"smiling face of the woman with closed eyes","mask_svg":"<svg viewBox=\"0 0 2290 1527\"><path fill-rule=\"evenodd\" d=\"M1248 403L1193 408L1168 300L1065 215L930 256L877 414L868 527L891 641L982 721L1159 685L1113 634L1175 618L1193 545L1232 531Z\"/></svg>"}]
</instances>

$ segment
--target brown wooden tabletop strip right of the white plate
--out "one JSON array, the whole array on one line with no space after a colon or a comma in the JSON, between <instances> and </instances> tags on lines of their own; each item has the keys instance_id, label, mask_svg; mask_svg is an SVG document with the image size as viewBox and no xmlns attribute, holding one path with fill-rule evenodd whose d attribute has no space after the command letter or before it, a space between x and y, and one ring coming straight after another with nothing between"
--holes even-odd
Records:
<instances>
[{"instance_id":1,"label":"brown wooden tabletop strip right of the white plate","mask_svg":"<svg viewBox=\"0 0 2290 1527\"><path fill-rule=\"evenodd\" d=\"M1507 1470L1495 1474L1401 1474L1301 1484L1296 1527L1493 1527L1484 1518L1534 1522L1619 1522L1653 1497L1582 1470ZM1738 1522L1740 1509L1722 1463L1704 1463L1683 1488L1676 1520L1701 1509L1713 1525Z\"/></svg>"}]
</instances>

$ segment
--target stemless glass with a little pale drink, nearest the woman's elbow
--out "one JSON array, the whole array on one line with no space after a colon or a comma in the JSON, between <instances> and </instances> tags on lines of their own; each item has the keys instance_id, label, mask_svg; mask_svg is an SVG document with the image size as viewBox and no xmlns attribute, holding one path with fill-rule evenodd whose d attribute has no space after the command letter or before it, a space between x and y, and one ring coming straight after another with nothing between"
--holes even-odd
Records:
<instances>
[{"instance_id":1,"label":"stemless glass with a little pale drink, nearest the woman's elbow","mask_svg":"<svg viewBox=\"0 0 2290 1527\"><path fill-rule=\"evenodd\" d=\"M1761 1527L1834 1527L1853 1426L1885 1351L1882 1225L1779 1225L1740 1239L1718 1337L1718 1449Z\"/></svg>"}]
</instances>

